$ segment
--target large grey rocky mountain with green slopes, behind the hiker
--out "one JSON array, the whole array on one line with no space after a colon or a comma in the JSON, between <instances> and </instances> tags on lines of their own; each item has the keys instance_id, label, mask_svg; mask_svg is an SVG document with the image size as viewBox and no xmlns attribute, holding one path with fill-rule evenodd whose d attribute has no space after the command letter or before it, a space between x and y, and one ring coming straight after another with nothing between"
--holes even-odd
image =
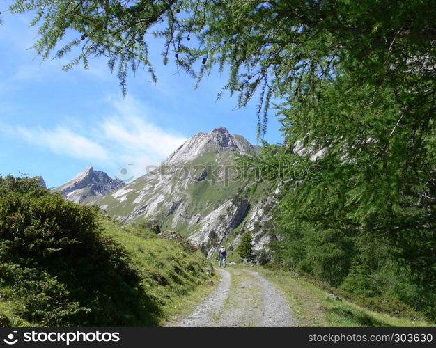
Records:
<instances>
[{"instance_id":1,"label":"large grey rocky mountain with green slopes, behind the hiker","mask_svg":"<svg viewBox=\"0 0 436 348\"><path fill-rule=\"evenodd\" d=\"M270 187L260 184L249 190L251 182L233 175L235 154L256 151L258 147L224 127L198 133L155 171L104 197L88 198L86 204L100 205L120 221L157 221L162 230L189 237L208 256L219 244L231 250L250 230L260 255L270 241L264 237L269 221L265 200L273 204Z\"/></svg>"}]
</instances>

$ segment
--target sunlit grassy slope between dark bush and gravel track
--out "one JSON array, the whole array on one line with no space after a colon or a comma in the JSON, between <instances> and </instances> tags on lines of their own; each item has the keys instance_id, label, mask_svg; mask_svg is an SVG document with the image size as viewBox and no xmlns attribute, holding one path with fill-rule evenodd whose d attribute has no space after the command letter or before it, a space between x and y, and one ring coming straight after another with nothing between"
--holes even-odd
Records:
<instances>
[{"instance_id":1,"label":"sunlit grassy slope between dark bush and gravel track","mask_svg":"<svg viewBox=\"0 0 436 348\"><path fill-rule=\"evenodd\" d=\"M159 307L159 322L196 303L210 290L212 265L201 253L188 253L176 241L112 219L102 219L104 235L122 244L141 275L141 286Z\"/></svg>"}]
</instances>

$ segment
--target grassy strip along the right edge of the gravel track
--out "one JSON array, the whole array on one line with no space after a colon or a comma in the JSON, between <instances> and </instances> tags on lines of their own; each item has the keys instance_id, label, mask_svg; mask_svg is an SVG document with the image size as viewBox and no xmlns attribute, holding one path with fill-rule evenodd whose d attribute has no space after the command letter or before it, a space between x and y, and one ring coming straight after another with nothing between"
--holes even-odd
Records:
<instances>
[{"instance_id":1,"label":"grassy strip along the right edge of the gravel track","mask_svg":"<svg viewBox=\"0 0 436 348\"><path fill-rule=\"evenodd\" d=\"M299 326L434 326L376 313L345 299L331 299L324 290L286 271L255 268L283 291Z\"/></svg>"}]
</instances>

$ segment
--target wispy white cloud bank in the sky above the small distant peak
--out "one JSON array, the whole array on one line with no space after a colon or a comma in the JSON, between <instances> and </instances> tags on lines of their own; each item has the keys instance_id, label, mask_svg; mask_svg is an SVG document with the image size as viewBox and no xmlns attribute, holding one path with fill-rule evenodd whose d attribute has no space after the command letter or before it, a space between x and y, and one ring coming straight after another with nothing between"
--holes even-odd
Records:
<instances>
[{"instance_id":1,"label":"wispy white cloud bank in the sky above the small distant peak","mask_svg":"<svg viewBox=\"0 0 436 348\"><path fill-rule=\"evenodd\" d=\"M148 121L150 111L132 97L109 100L114 113L86 125L69 122L48 127L1 125L3 133L68 157L86 160L122 180L158 166L187 139ZM140 115L143 116L140 116ZM145 114L145 116L144 116ZM127 173L126 173L127 172Z\"/></svg>"}]
</instances>

